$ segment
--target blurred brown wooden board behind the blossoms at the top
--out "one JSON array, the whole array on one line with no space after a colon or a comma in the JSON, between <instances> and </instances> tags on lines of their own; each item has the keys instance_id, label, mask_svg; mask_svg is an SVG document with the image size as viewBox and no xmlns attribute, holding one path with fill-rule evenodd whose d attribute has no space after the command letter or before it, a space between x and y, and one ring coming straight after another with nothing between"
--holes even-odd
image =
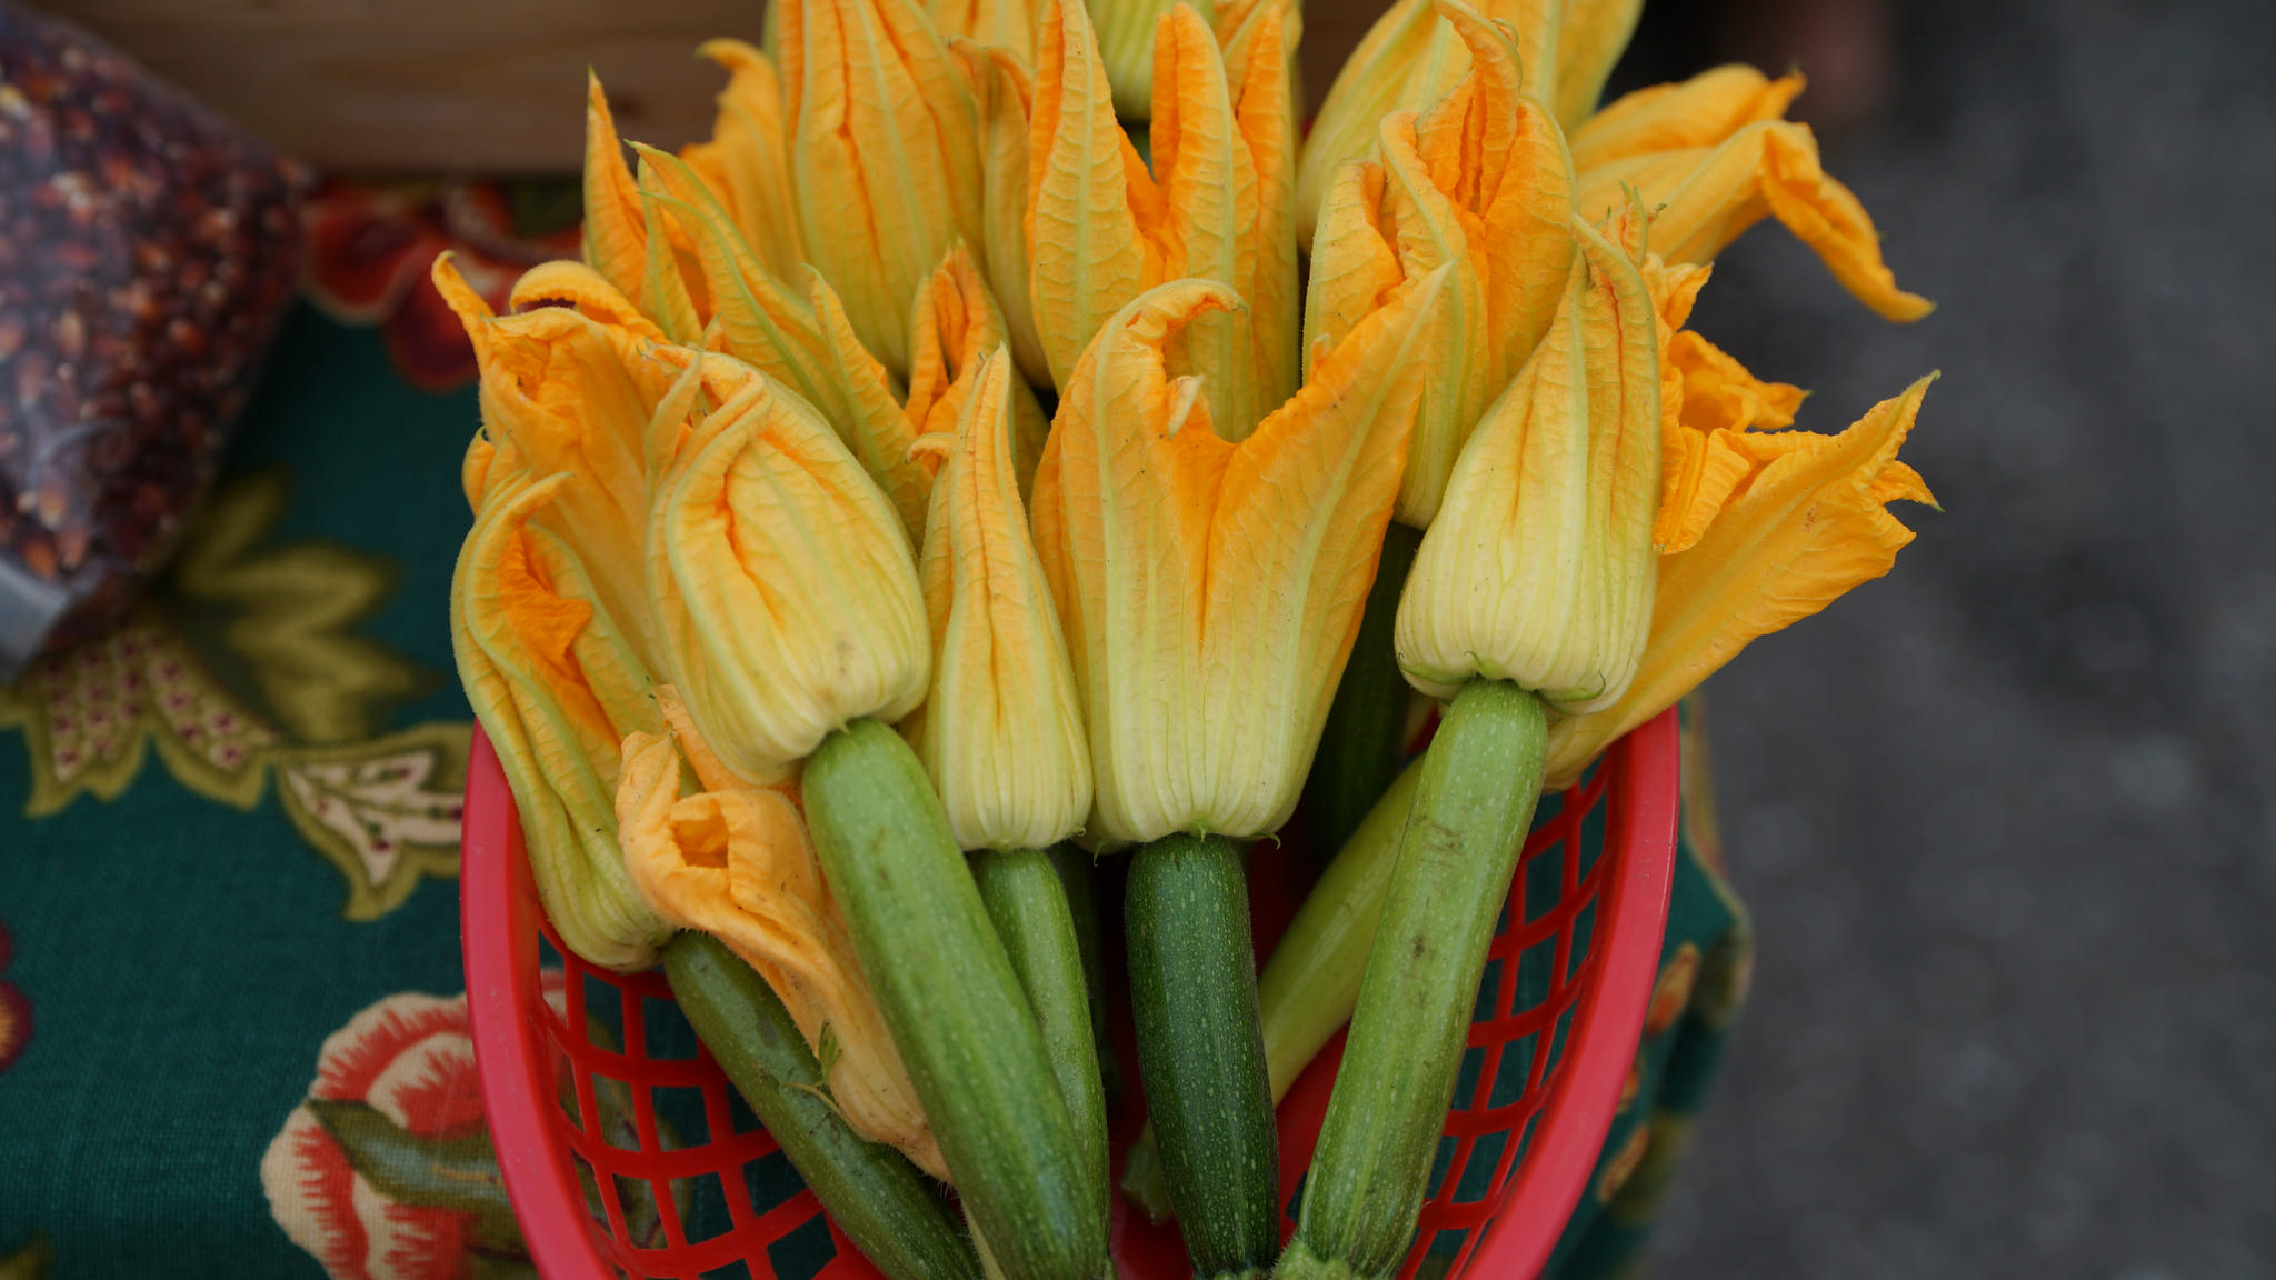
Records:
<instances>
[{"instance_id":1,"label":"blurred brown wooden board behind the blossoms at the top","mask_svg":"<svg viewBox=\"0 0 2276 1280\"><path fill-rule=\"evenodd\" d=\"M544 173L583 153L585 68L626 137L706 137L710 36L758 41L762 0L43 0L269 141L339 171ZM1384 0L1313 0L1318 100Z\"/></svg>"}]
</instances>

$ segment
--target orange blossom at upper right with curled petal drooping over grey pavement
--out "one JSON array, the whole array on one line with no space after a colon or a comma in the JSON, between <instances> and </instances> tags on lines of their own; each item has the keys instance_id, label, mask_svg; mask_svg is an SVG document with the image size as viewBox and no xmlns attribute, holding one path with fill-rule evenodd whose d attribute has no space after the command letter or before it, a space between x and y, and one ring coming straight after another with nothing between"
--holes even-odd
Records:
<instances>
[{"instance_id":1,"label":"orange blossom at upper right with curled petal drooping over grey pavement","mask_svg":"<svg viewBox=\"0 0 2276 1280\"><path fill-rule=\"evenodd\" d=\"M1709 262L1775 216L1857 301L1891 321L1925 317L1932 303L1896 287L1864 205L1819 166L1809 125L1782 118L1800 89L1798 75L1771 82L1725 66L1605 107L1573 134L1582 214L1639 191L1668 262Z\"/></svg>"}]
</instances>

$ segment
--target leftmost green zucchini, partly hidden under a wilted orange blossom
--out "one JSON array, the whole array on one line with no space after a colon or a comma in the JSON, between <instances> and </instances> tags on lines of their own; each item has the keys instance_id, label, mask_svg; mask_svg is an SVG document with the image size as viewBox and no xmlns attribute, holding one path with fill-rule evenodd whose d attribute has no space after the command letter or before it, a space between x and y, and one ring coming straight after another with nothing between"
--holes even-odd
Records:
<instances>
[{"instance_id":1,"label":"leftmost green zucchini, partly hidden under a wilted orange blossom","mask_svg":"<svg viewBox=\"0 0 2276 1280\"><path fill-rule=\"evenodd\" d=\"M933 1180L856 1134L828 1105L822 1064L751 966L710 934L687 932L665 945L665 977L696 1036L863 1257L892 1280L981 1278Z\"/></svg>"}]
</instances>

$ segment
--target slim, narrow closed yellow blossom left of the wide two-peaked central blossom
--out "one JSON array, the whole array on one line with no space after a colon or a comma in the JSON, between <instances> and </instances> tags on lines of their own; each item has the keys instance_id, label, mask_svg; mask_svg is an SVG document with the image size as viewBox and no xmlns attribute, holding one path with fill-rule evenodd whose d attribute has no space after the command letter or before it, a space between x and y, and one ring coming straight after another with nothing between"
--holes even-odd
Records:
<instances>
[{"instance_id":1,"label":"slim, narrow closed yellow blossom left of the wide two-peaked central blossom","mask_svg":"<svg viewBox=\"0 0 2276 1280\"><path fill-rule=\"evenodd\" d=\"M963 396L917 565L935 663L915 745L967 850L1040 850L1090 813L1074 670L1020 501L1013 396L999 346Z\"/></svg>"}]
</instances>

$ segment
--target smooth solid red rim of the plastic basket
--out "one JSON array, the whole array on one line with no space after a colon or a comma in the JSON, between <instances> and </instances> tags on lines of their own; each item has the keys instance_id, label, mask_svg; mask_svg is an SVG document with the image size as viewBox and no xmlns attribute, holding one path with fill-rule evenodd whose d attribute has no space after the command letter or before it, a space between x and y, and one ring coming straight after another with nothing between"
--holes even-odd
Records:
<instances>
[{"instance_id":1,"label":"smooth solid red rim of the plastic basket","mask_svg":"<svg viewBox=\"0 0 2276 1280\"><path fill-rule=\"evenodd\" d=\"M1605 850L1618 852L1600 888L1607 920L1602 963L1580 1000L1573 1043L1541 1109L1525 1164L1502 1191L1504 1205L1479 1232L1461 1275L1539 1275L1573 1205L1586 1189L1618 1111L1634 1045L1643 1036L1652 979L1675 881L1675 824L1682 788L1677 713L1668 708L1607 749L1618 756L1623 804L1607 811ZM569 1143L546 1123L553 1098L551 1052L539 1020L523 1018L519 993L537 991L537 891L521 850L521 822L496 749L480 724L467 765L460 863L460 943L467 968L467 1020L483 1109L505 1196L523 1225L530 1262L546 1280L608 1280L599 1225L585 1212L569 1168ZM1586 1070L1584 1070L1586 1068ZM1555 1207L1555 1212L1545 1212Z\"/></svg>"}]
</instances>

